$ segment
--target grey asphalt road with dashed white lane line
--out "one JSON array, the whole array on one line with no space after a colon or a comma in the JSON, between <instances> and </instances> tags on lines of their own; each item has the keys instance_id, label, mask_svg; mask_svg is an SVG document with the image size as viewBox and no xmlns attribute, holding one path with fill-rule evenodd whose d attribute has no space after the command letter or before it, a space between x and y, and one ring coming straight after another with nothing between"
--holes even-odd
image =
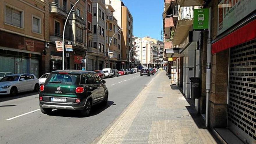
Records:
<instances>
[{"instance_id":1,"label":"grey asphalt road with dashed white lane line","mask_svg":"<svg viewBox=\"0 0 256 144\"><path fill-rule=\"evenodd\" d=\"M51 115L39 110L37 93L0 97L0 143L91 143L122 113L154 76L139 73L106 79L107 106L96 105L90 117L78 111L55 110Z\"/></svg>"}]
</instances>

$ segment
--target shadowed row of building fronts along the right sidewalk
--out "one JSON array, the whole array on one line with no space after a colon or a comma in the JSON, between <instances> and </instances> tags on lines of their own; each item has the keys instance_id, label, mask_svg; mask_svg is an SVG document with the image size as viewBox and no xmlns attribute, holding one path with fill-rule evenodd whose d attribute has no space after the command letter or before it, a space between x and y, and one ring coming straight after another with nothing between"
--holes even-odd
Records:
<instances>
[{"instance_id":1,"label":"shadowed row of building fronts along the right sidewalk","mask_svg":"<svg viewBox=\"0 0 256 144\"><path fill-rule=\"evenodd\" d=\"M255 4L249 0L165 1L169 9L163 13L165 24L165 13L173 15L173 46L165 53L176 58L170 66L176 66L179 87L207 127L227 128L243 143L256 142ZM178 7L177 20L172 5ZM202 8L209 8L209 29L193 31L193 11ZM199 97L191 93L191 77L199 79Z\"/></svg>"}]
</instances>

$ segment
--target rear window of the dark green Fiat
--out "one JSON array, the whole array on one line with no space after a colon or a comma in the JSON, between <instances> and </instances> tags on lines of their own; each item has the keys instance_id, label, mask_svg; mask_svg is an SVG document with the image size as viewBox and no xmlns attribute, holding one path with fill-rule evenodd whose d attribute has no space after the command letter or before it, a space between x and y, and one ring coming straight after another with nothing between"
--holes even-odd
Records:
<instances>
[{"instance_id":1,"label":"rear window of the dark green Fiat","mask_svg":"<svg viewBox=\"0 0 256 144\"><path fill-rule=\"evenodd\" d=\"M51 73L45 83L62 83L68 85L79 84L80 75L78 74L59 74Z\"/></svg>"}]
</instances>

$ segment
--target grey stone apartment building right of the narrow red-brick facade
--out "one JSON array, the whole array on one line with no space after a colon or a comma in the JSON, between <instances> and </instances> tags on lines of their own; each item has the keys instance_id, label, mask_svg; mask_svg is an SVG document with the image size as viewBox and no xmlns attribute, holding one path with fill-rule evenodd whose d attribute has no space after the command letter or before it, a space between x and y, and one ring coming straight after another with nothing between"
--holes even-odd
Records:
<instances>
[{"instance_id":1,"label":"grey stone apartment building right of the narrow red-brick facade","mask_svg":"<svg viewBox=\"0 0 256 144\"><path fill-rule=\"evenodd\" d=\"M92 45L88 48L88 70L106 67L106 7L104 0L92 0Z\"/></svg>"}]
</instances>

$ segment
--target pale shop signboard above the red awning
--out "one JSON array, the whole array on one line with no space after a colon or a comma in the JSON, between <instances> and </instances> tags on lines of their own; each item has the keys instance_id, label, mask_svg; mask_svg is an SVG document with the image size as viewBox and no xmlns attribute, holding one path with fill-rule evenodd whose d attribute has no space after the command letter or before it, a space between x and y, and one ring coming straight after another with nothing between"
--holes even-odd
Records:
<instances>
[{"instance_id":1,"label":"pale shop signboard above the red awning","mask_svg":"<svg viewBox=\"0 0 256 144\"><path fill-rule=\"evenodd\" d=\"M256 10L255 0L221 0L218 4L218 35Z\"/></svg>"}]
</instances>

